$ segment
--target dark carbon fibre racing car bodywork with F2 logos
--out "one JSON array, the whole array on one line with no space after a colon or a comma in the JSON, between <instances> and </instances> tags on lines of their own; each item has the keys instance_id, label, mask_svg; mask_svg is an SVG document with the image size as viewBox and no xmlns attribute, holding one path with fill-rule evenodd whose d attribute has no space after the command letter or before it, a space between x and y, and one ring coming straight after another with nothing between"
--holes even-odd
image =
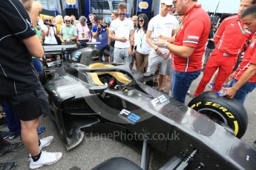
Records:
<instances>
[{"instance_id":1,"label":"dark carbon fibre racing car bodywork with F2 logos","mask_svg":"<svg viewBox=\"0 0 256 170\"><path fill-rule=\"evenodd\" d=\"M90 72L122 72L131 83L96 86ZM183 160L197 149L188 169L200 164L205 169L255 169L254 149L206 115L138 82L128 65L91 69L64 62L45 89L50 116L68 150L90 133L111 134L121 141L132 135L138 143L146 138L167 157Z\"/></svg>"}]
</instances>

